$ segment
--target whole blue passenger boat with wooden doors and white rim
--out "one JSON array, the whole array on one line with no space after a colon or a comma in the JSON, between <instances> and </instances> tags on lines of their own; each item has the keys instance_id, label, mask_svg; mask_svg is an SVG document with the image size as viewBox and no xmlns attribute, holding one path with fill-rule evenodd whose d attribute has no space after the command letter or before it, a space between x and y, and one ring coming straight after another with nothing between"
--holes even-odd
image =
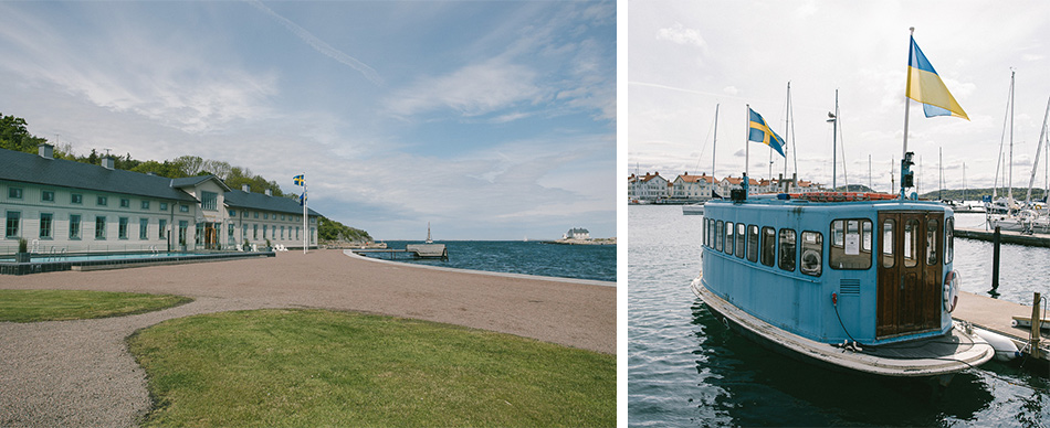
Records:
<instances>
[{"instance_id":1,"label":"whole blue passenger boat with wooden doors and white rim","mask_svg":"<svg viewBox=\"0 0 1050 428\"><path fill-rule=\"evenodd\" d=\"M726 324L810 362L937 377L995 350L954 322L953 211L884 193L707 202L691 288Z\"/></svg>"}]
</instances>

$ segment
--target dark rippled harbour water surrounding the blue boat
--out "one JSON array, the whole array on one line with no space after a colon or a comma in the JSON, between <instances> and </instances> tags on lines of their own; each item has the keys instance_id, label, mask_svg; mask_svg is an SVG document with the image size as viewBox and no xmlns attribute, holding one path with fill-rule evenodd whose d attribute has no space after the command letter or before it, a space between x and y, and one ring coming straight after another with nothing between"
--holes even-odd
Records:
<instances>
[{"instance_id":1,"label":"dark rippled harbour water surrounding the blue boat","mask_svg":"<svg viewBox=\"0 0 1050 428\"><path fill-rule=\"evenodd\" d=\"M1050 382L995 362L924 381L831 372L781 357L729 331L690 291L700 272L701 216L630 206L630 426L1050 426ZM959 215L959 227L980 215ZM1050 295L1050 249L1001 247L1000 299ZM963 290L986 292L991 245L956 239Z\"/></svg>"}]
</instances>

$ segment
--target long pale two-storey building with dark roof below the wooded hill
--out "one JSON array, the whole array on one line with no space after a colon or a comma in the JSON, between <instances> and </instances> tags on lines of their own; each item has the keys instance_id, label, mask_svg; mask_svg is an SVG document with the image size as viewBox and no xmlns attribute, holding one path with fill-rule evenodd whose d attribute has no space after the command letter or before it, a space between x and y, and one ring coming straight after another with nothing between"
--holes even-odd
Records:
<instances>
[{"instance_id":1,"label":"long pale two-storey building with dark roof below the wooded hill","mask_svg":"<svg viewBox=\"0 0 1050 428\"><path fill-rule=\"evenodd\" d=\"M297 201L231 190L214 175L183 179L0 149L0 254L233 249L317 244L317 212ZM308 235L307 235L308 234Z\"/></svg>"}]
</instances>

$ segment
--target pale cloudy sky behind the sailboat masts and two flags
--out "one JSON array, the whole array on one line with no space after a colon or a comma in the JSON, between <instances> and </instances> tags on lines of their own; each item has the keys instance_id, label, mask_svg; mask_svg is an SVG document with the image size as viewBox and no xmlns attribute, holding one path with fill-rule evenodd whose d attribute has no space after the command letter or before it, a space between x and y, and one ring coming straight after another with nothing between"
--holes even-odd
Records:
<instances>
[{"instance_id":1,"label":"pale cloudy sky behind the sailboat masts and two flags","mask_svg":"<svg viewBox=\"0 0 1050 428\"><path fill-rule=\"evenodd\" d=\"M1004 128L1011 68L1017 72L1012 183L1028 185L1050 97L1048 2L650 0L631 1L620 13L629 21L630 75L620 93L630 97L623 108L630 129L622 181L636 165L672 180L685 171L711 173L716 104L715 176L739 176L749 104L788 138L788 172L796 170L797 156L801 179L830 186L833 139L827 119L838 89L837 184L848 179L890 190L891 164L900 173L909 28L914 26L915 42L970 119L925 118L912 101L907 148L915 152L921 192L938 188L942 148L945 188L962 189L964 163L967 186L993 186L1002 164L1000 142L1009 159ZM784 132L788 82L790 136ZM768 176L769 149L752 143L749 151L752 176ZM1040 188L1046 153L1037 172ZM774 159L776 175L784 163L779 154Z\"/></svg>"}]
</instances>

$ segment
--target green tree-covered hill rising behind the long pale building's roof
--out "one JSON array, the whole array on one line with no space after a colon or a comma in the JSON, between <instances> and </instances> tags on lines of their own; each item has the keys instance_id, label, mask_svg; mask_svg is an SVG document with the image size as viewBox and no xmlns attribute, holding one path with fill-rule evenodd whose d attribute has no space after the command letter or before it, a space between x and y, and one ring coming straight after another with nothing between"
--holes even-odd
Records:
<instances>
[{"instance_id":1,"label":"green tree-covered hill rising behind the long pale building's roof","mask_svg":"<svg viewBox=\"0 0 1050 428\"><path fill-rule=\"evenodd\" d=\"M45 138L33 136L27 128L25 119L14 116L4 116L0 113L0 149L36 153L40 145L48 143ZM57 145L54 148L55 159L65 159L74 162L102 164L103 156L95 149L86 156L73 152L73 145ZM296 199L294 193L284 193L276 181L266 180L262 175L253 174L243 167L234 167L229 162L203 159L196 156L181 156L171 160L154 161L132 159L132 153L114 156L114 168L118 170L154 173L169 179L183 176L216 175L230 189L240 190L244 184L254 193L269 190L274 196ZM317 233L321 240L370 242L368 232L349 227L343 223L321 217L317 223Z\"/></svg>"}]
</instances>

